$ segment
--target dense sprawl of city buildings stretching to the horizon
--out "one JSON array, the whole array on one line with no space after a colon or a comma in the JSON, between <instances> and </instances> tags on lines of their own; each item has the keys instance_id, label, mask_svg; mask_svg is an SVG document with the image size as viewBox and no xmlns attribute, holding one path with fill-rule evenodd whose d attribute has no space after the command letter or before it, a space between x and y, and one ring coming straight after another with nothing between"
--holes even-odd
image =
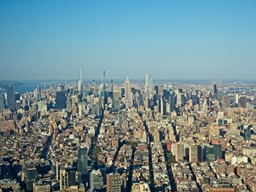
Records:
<instances>
[{"instance_id":1,"label":"dense sprawl of city buildings stretching to the horizon","mask_svg":"<svg viewBox=\"0 0 256 192\"><path fill-rule=\"evenodd\" d=\"M1 190L256 191L255 83L144 81L5 83Z\"/></svg>"}]
</instances>

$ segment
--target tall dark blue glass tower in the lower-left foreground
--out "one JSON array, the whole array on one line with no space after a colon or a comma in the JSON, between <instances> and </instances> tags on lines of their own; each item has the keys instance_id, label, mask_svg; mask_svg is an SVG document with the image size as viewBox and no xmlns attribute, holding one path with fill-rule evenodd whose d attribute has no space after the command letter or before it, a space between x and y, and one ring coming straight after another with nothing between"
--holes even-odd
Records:
<instances>
[{"instance_id":1,"label":"tall dark blue glass tower in the lower-left foreground","mask_svg":"<svg viewBox=\"0 0 256 192\"><path fill-rule=\"evenodd\" d=\"M85 147L78 149L78 183L86 184L88 154Z\"/></svg>"}]
</instances>

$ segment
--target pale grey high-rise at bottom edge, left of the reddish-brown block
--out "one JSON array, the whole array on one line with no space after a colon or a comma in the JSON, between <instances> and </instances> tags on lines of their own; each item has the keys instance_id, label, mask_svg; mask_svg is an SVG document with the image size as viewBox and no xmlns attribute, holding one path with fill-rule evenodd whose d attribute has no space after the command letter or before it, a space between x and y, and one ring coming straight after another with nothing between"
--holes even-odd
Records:
<instances>
[{"instance_id":1,"label":"pale grey high-rise at bottom edge, left of the reddish-brown block","mask_svg":"<svg viewBox=\"0 0 256 192\"><path fill-rule=\"evenodd\" d=\"M103 188L103 177L100 170L92 170L90 173L90 191Z\"/></svg>"}]
</instances>

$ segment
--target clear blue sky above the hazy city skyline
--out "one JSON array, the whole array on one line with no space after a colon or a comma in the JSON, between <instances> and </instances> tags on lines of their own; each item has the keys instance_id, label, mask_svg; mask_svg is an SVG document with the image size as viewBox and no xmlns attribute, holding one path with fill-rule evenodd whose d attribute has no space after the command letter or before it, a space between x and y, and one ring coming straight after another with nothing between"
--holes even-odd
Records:
<instances>
[{"instance_id":1,"label":"clear blue sky above the hazy city skyline","mask_svg":"<svg viewBox=\"0 0 256 192\"><path fill-rule=\"evenodd\" d=\"M255 79L256 1L0 1L0 79Z\"/></svg>"}]
</instances>

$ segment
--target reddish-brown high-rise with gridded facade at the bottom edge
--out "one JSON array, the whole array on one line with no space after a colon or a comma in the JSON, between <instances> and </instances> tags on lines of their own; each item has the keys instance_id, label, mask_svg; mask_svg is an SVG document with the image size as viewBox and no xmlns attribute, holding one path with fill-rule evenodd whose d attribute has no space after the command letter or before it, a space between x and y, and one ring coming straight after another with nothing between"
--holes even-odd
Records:
<instances>
[{"instance_id":1,"label":"reddish-brown high-rise with gridded facade at the bottom edge","mask_svg":"<svg viewBox=\"0 0 256 192\"><path fill-rule=\"evenodd\" d=\"M121 192L122 178L119 174L106 175L106 192Z\"/></svg>"}]
</instances>

